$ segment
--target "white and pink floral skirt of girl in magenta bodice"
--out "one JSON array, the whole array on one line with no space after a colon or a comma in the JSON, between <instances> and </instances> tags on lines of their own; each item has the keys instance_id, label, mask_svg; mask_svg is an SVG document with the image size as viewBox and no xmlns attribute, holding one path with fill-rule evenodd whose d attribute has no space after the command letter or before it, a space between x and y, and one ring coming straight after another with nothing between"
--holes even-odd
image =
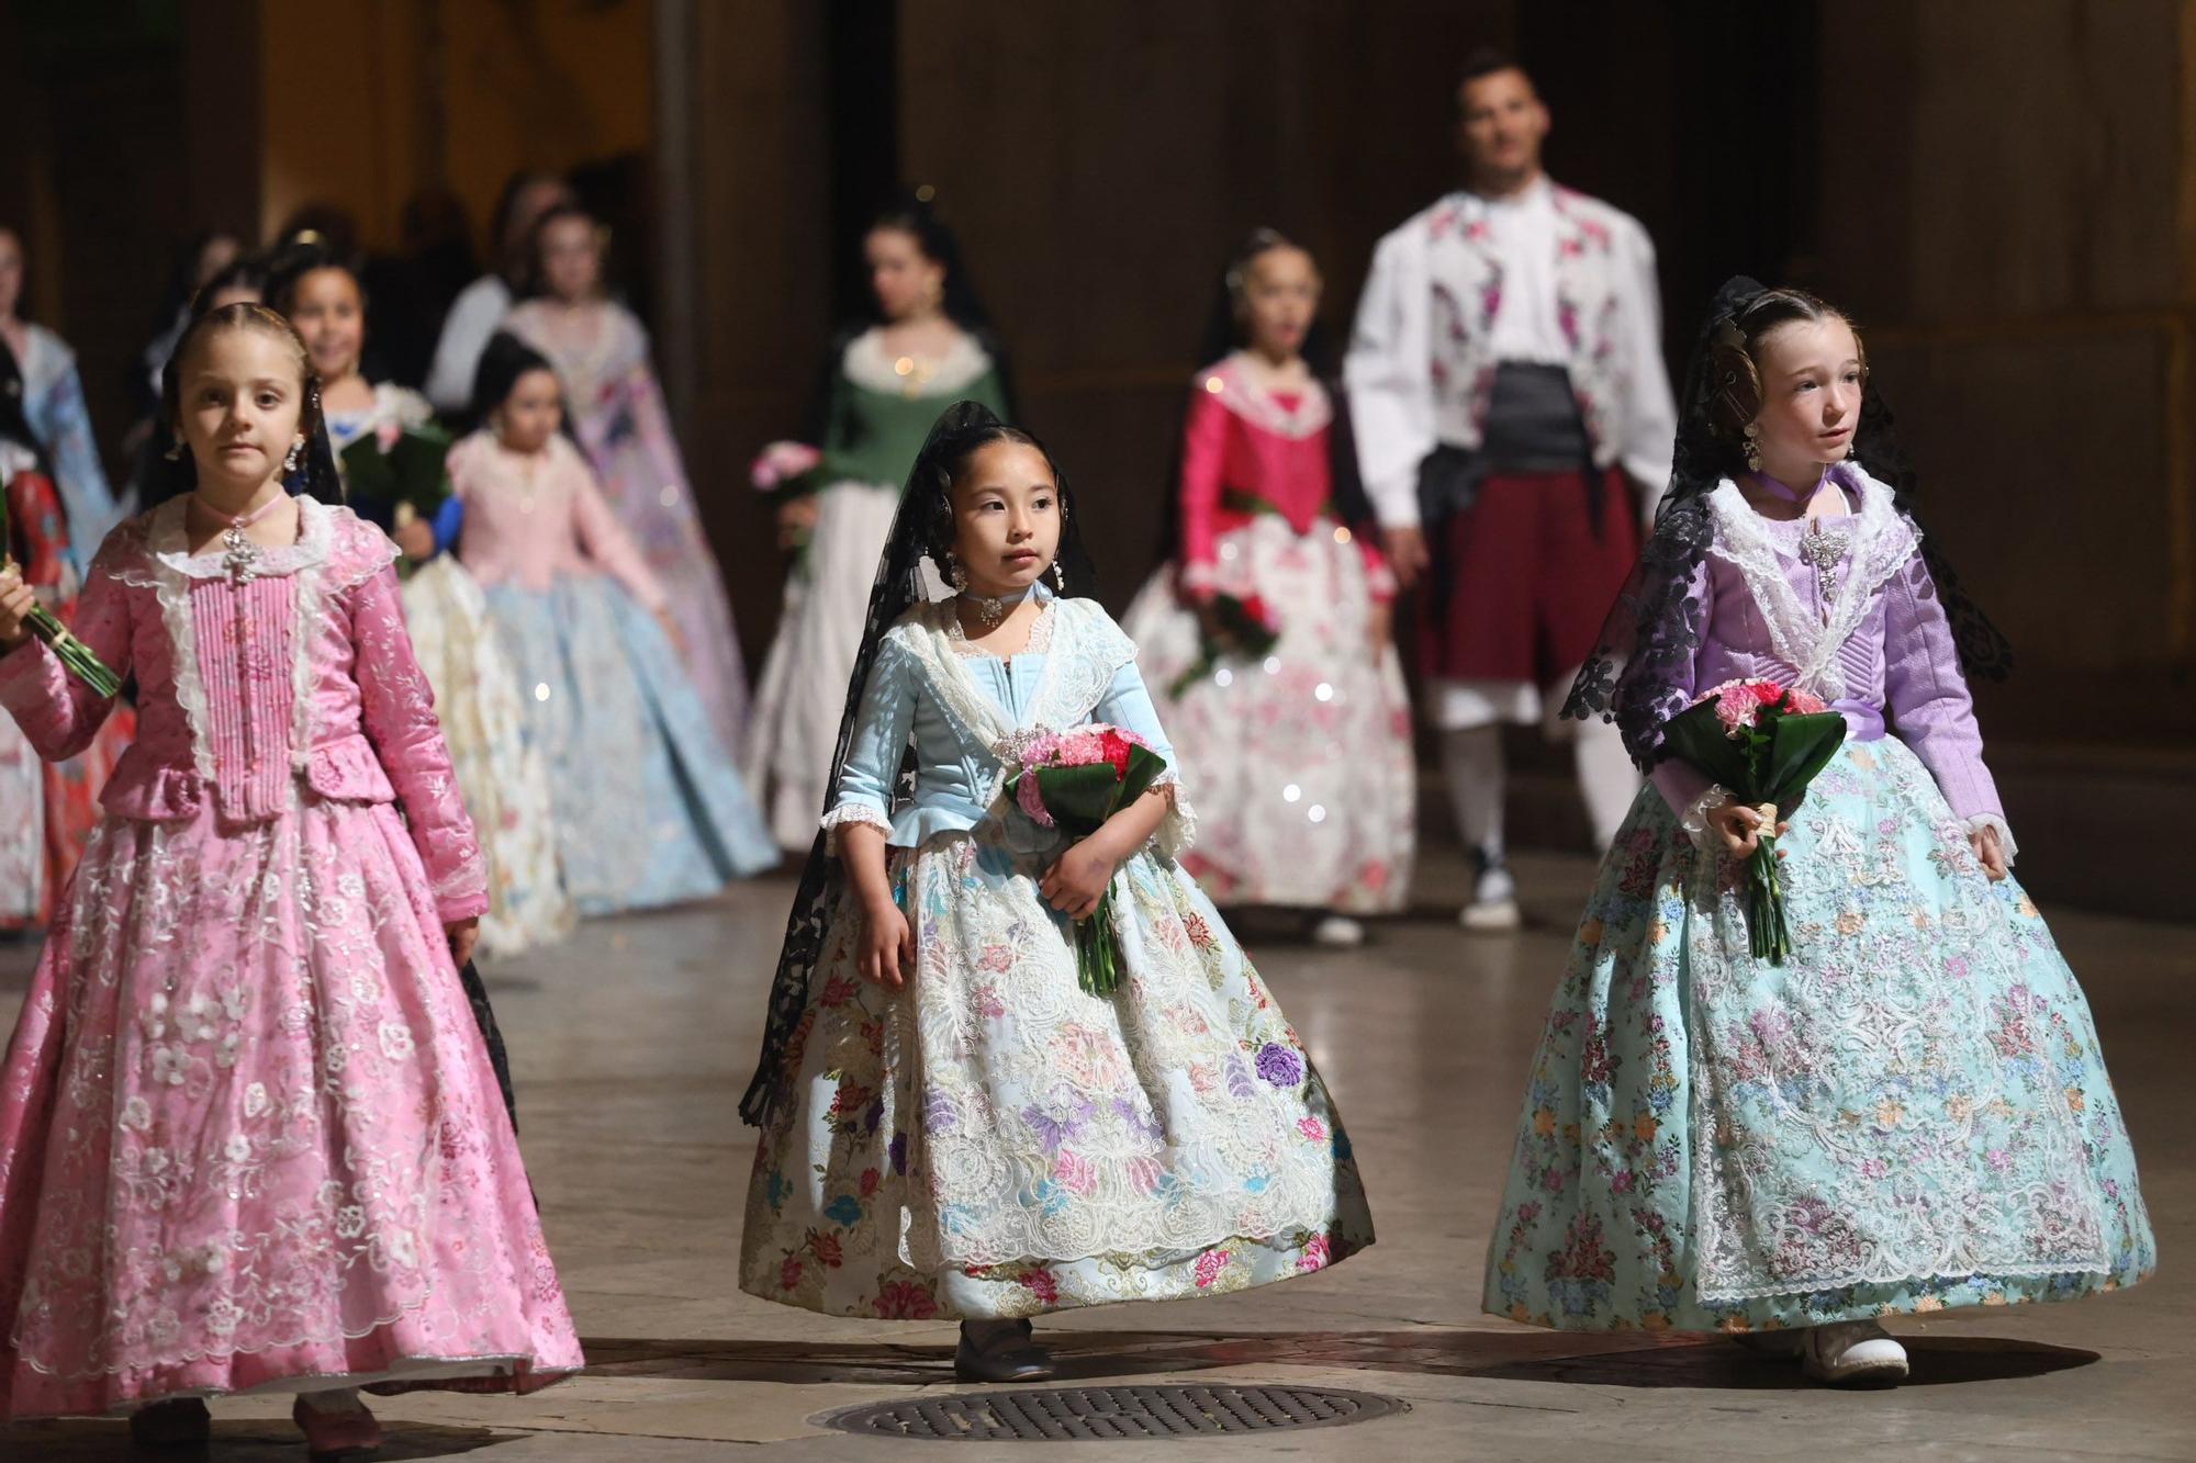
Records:
<instances>
[{"instance_id":1,"label":"white and pink floral skirt of girl in magenta bodice","mask_svg":"<svg viewBox=\"0 0 2196 1463\"><path fill-rule=\"evenodd\" d=\"M1364 556L1326 518L1300 536L1278 514L1221 534L1219 556L1223 593L1280 615L1267 657L1223 659L1175 696L1201 637L1170 569L1122 622L1197 791L1181 863L1223 905L1392 914L1410 896L1419 791L1401 659L1370 644Z\"/></svg>"}]
</instances>

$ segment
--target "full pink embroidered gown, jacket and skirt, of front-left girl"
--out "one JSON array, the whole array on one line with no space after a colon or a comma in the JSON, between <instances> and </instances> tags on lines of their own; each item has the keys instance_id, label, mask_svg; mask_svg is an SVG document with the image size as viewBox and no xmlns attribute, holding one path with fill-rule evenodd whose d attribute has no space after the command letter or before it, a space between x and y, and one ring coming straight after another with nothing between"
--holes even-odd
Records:
<instances>
[{"instance_id":1,"label":"full pink embroidered gown, jacket and skirt, of front-left girl","mask_svg":"<svg viewBox=\"0 0 2196 1463\"><path fill-rule=\"evenodd\" d=\"M580 1344L441 934L485 874L393 549L307 499L246 578L184 505L77 611L138 740L0 1065L0 1417L542 1386ZM112 710L37 644L0 705L48 758Z\"/></svg>"}]
</instances>

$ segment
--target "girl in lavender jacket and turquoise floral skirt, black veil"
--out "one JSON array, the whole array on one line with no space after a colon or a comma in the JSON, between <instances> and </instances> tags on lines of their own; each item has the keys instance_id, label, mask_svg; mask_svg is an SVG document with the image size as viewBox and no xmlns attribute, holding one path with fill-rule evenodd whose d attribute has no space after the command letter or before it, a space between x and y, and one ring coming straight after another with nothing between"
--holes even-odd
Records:
<instances>
[{"instance_id":1,"label":"girl in lavender jacket and turquoise floral skirt, black veil","mask_svg":"<svg viewBox=\"0 0 2196 1463\"><path fill-rule=\"evenodd\" d=\"M1533 1059L1484 1305L1897 1382L1880 1316L2117 1289L2156 1246L2088 1006L2007 872L1963 679L2003 641L1906 510L1851 323L1733 281L1687 400L1566 707L1614 718L1651 784ZM1849 723L1779 830L1783 964L1748 953L1759 815L1660 756L1662 723L1737 677Z\"/></svg>"}]
</instances>

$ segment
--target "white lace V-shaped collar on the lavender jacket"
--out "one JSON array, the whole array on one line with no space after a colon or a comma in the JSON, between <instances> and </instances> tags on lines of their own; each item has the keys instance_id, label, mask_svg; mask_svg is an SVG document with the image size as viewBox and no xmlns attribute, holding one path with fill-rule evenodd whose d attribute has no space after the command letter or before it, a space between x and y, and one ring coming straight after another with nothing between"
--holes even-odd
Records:
<instances>
[{"instance_id":1,"label":"white lace V-shaped collar on the lavender jacket","mask_svg":"<svg viewBox=\"0 0 2196 1463\"><path fill-rule=\"evenodd\" d=\"M1794 685L1825 701L1845 696L1845 670L1838 650L1869 613L1875 591L1913 556L1922 534L1891 503L1891 488L1864 472L1860 512L1853 514L1853 547L1845 556L1845 576L1829 591L1827 615L1810 611L1785 578L1785 551L1770 536L1761 514L1739 494L1728 477L1708 494L1715 518L1715 543L1708 551L1746 578L1746 589L1761 611L1777 657L1794 668Z\"/></svg>"}]
</instances>

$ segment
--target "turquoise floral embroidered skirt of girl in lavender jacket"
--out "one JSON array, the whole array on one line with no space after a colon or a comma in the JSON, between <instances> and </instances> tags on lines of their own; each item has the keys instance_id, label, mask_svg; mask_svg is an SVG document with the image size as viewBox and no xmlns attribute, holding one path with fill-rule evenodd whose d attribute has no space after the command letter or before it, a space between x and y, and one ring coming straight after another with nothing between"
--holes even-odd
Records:
<instances>
[{"instance_id":1,"label":"turquoise floral embroidered skirt of girl in lavender jacket","mask_svg":"<svg viewBox=\"0 0 2196 1463\"><path fill-rule=\"evenodd\" d=\"M1748 1331L2064 1300L2156 1263L2097 1030L2012 879L1897 740L1779 839L1792 940L1640 793L1526 1085L1484 1307Z\"/></svg>"}]
</instances>

